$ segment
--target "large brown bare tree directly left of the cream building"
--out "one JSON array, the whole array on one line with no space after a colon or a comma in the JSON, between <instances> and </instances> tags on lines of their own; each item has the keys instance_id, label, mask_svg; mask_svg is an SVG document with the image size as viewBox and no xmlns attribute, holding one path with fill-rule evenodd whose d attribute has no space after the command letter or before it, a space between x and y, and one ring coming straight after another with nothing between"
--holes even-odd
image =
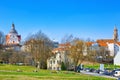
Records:
<instances>
[{"instance_id":1,"label":"large brown bare tree directly left of the cream building","mask_svg":"<svg viewBox=\"0 0 120 80\"><path fill-rule=\"evenodd\" d=\"M52 53L52 41L39 31L27 39L25 45L28 46L28 52L32 55L34 65L37 65L38 68L46 68L47 58Z\"/></svg>"}]
</instances>

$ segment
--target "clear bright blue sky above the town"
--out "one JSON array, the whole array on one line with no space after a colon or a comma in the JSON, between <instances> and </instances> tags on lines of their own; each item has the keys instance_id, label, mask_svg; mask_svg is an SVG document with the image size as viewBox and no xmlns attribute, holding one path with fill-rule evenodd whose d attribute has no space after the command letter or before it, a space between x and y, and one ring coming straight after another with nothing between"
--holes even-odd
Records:
<instances>
[{"instance_id":1,"label":"clear bright blue sky above the town","mask_svg":"<svg viewBox=\"0 0 120 80\"><path fill-rule=\"evenodd\" d=\"M70 34L111 39L115 25L120 31L120 0L0 0L0 31L12 23L22 40L40 30L59 42Z\"/></svg>"}]
</instances>

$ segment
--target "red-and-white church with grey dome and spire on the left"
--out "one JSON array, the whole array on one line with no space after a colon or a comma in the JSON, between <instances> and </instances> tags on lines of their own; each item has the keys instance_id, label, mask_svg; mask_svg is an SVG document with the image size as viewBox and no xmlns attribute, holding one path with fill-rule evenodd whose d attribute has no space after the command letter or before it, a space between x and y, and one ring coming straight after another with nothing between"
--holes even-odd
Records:
<instances>
[{"instance_id":1,"label":"red-and-white church with grey dome and spire on the left","mask_svg":"<svg viewBox=\"0 0 120 80\"><path fill-rule=\"evenodd\" d=\"M10 32L6 35L6 45L19 45L21 41L21 35L15 29L15 25L12 24Z\"/></svg>"}]
</instances>

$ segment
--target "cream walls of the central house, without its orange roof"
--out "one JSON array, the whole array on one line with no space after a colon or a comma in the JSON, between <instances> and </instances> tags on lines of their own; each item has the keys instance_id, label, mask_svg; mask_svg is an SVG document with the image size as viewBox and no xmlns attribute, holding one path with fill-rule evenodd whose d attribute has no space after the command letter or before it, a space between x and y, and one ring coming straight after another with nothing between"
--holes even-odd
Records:
<instances>
[{"instance_id":1,"label":"cream walls of the central house, without its orange roof","mask_svg":"<svg viewBox=\"0 0 120 80\"><path fill-rule=\"evenodd\" d=\"M62 62L64 62L67 69L72 69L74 66L73 60L67 55L66 51L56 51L55 55L47 60L47 69L61 70Z\"/></svg>"}]
</instances>

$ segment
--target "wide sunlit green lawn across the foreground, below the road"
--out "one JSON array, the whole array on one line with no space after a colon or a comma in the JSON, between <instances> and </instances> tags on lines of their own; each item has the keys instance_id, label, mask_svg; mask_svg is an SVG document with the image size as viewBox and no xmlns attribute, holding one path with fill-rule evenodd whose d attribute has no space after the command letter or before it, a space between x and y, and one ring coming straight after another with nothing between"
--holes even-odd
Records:
<instances>
[{"instance_id":1,"label":"wide sunlit green lawn across the foreground, below the road","mask_svg":"<svg viewBox=\"0 0 120 80\"><path fill-rule=\"evenodd\" d=\"M18 69L21 72L17 72ZM115 80L68 71L40 69L38 72L33 72L35 69L31 66L0 65L0 80Z\"/></svg>"}]
</instances>

